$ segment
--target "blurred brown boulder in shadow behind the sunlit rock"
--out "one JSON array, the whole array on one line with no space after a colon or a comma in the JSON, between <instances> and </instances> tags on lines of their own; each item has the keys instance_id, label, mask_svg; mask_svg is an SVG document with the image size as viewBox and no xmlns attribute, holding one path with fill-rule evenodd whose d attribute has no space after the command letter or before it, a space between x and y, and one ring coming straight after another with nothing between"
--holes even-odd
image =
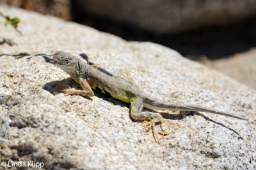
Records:
<instances>
[{"instance_id":1,"label":"blurred brown boulder in shadow behind the sunlit rock","mask_svg":"<svg viewBox=\"0 0 256 170\"><path fill-rule=\"evenodd\" d=\"M74 8L80 19L92 13L163 34L225 24L256 15L255 0L77 0Z\"/></svg>"}]
</instances>

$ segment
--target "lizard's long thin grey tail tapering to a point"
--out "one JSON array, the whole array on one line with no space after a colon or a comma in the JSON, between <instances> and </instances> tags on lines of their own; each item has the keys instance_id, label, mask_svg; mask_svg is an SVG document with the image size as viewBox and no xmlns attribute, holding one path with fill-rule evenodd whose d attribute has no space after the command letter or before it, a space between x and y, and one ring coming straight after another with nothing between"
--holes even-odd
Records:
<instances>
[{"instance_id":1,"label":"lizard's long thin grey tail tapering to a point","mask_svg":"<svg viewBox=\"0 0 256 170\"><path fill-rule=\"evenodd\" d=\"M148 109L170 110L170 111L209 112L209 113L213 113L213 114L220 114L223 116L236 118L239 120L247 120L246 118L234 116L232 114L228 114L227 112L216 111L214 109L209 109L207 107L201 107L198 105L163 104L160 102L156 102L155 100L150 100L149 98L143 98L143 99L144 99L143 107L146 107Z\"/></svg>"}]
</instances>

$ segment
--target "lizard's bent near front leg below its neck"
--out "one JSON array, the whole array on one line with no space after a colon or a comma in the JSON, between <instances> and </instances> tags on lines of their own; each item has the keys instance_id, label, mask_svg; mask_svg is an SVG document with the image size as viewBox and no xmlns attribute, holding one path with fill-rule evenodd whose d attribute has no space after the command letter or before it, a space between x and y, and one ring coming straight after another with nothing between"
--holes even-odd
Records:
<instances>
[{"instance_id":1,"label":"lizard's bent near front leg below its neck","mask_svg":"<svg viewBox=\"0 0 256 170\"><path fill-rule=\"evenodd\" d=\"M72 79L74 79L74 78L72 77ZM83 78L79 77L77 79L74 79L74 81L79 83L80 86L83 88L83 90L71 89L69 87L67 89L61 89L60 91L62 91L64 93L68 93L70 95L79 95L79 96L83 96L83 97L93 97L94 96L92 88L90 87L90 84L88 84L86 79L83 79Z\"/></svg>"}]
</instances>

